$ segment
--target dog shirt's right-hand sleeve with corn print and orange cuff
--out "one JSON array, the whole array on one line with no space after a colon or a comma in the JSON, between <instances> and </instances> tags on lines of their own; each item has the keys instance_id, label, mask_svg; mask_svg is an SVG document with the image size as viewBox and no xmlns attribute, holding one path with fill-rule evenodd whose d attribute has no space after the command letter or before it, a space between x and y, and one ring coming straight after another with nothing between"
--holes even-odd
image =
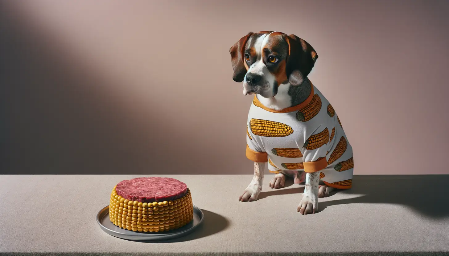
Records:
<instances>
[{"instance_id":1,"label":"dog shirt's right-hand sleeve with corn print and orange cuff","mask_svg":"<svg viewBox=\"0 0 449 256\"><path fill-rule=\"evenodd\" d=\"M304 172L314 173L327 167L329 138L329 129L321 125L306 140L302 149Z\"/></svg>"}]
</instances>

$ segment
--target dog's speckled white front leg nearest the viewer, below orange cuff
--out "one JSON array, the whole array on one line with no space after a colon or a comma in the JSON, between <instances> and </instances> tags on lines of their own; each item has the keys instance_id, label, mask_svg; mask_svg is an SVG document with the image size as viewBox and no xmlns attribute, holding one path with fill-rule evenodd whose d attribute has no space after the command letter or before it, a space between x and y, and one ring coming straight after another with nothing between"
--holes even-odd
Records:
<instances>
[{"instance_id":1,"label":"dog's speckled white front leg nearest the viewer, below orange cuff","mask_svg":"<svg viewBox=\"0 0 449 256\"><path fill-rule=\"evenodd\" d=\"M321 171L306 174L306 185L303 198L299 202L298 212L301 214L316 213L318 211L318 183Z\"/></svg>"}]
</instances>

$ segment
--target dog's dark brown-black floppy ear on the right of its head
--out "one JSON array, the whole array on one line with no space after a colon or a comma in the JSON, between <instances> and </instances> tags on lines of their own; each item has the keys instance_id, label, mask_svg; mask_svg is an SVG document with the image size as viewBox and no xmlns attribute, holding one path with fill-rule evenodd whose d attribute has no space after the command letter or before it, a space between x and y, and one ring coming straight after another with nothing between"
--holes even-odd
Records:
<instances>
[{"instance_id":1,"label":"dog's dark brown-black floppy ear on the right of its head","mask_svg":"<svg viewBox=\"0 0 449 256\"><path fill-rule=\"evenodd\" d=\"M318 55L304 39L300 39L296 35L285 35L284 37L288 44L286 75L292 86L298 86L312 71Z\"/></svg>"}]
</instances>

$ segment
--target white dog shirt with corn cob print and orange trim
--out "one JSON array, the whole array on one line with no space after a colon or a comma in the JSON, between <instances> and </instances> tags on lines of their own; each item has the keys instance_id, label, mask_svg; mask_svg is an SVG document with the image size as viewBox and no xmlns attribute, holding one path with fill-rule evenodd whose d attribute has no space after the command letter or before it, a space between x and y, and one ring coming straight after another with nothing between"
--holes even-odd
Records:
<instances>
[{"instance_id":1,"label":"white dog shirt with corn cob print and orange trim","mask_svg":"<svg viewBox=\"0 0 449 256\"><path fill-rule=\"evenodd\" d=\"M352 147L334 108L311 86L307 100L280 111L254 97L247 122L247 158L268 162L272 173L321 171L320 178L328 186L351 188Z\"/></svg>"}]
</instances>

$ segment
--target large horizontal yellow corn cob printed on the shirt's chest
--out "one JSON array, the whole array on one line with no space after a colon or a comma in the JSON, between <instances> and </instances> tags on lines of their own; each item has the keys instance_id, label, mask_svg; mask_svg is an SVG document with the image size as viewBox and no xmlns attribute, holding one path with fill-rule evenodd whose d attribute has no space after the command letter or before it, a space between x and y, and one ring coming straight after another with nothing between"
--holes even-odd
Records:
<instances>
[{"instance_id":1,"label":"large horizontal yellow corn cob printed on the shirt's chest","mask_svg":"<svg viewBox=\"0 0 449 256\"><path fill-rule=\"evenodd\" d=\"M264 137L285 137L293 133L286 124L261 119L251 119L250 128L253 134Z\"/></svg>"}]
</instances>

